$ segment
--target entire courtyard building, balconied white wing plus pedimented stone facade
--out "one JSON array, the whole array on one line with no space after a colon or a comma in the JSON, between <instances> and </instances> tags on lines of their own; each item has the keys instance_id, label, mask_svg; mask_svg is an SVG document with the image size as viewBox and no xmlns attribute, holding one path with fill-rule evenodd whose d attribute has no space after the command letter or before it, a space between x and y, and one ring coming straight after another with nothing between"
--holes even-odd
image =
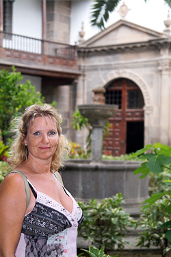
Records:
<instances>
[{"instance_id":1,"label":"entire courtyard building, balconied white wing plus pedimented stone facade","mask_svg":"<svg viewBox=\"0 0 171 257\"><path fill-rule=\"evenodd\" d=\"M97 86L105 88L106 103L119 107L110 119L106 154L158 141L171 145L170 19L165 32L156 32L125 20L124 6L122 19L86 41L82 31L76 47L69 45L76 4L0 0L0 69L16 66L47 102L57 101L64 133L81 145L86 133L72 129L72 114L77 105L92 103Z\"/></svg>"}]
</instances>

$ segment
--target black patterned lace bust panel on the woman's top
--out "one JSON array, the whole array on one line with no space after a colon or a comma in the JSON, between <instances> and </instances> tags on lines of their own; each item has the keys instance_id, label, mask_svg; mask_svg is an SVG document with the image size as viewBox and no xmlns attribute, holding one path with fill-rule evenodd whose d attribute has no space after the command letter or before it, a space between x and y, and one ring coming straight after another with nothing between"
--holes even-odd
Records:
<instances>
[{"instance_id":1,"label":"black patterned lace bust panel on the woman's top","mask_svg":"<svg viewBox=\"0 0 171 257\"><path fill-rule=\"evenodd\" d=\"M22 232L27 235L49 236L71 226L70 221L61 212L36 202L34 209L25 216Z\"/></svg>"}]
</instances>

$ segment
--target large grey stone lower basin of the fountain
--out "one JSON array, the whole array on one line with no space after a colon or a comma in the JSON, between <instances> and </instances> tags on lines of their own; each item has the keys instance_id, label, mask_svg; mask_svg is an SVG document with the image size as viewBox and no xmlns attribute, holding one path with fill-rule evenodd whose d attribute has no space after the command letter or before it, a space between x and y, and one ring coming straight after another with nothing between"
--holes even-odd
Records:
<instances>
[{"instance_id":1,"label":"large grey stone lower basin of the fountain","mask_svg":"<svg viewBox=\"0 0 171 257\"><path fill-rule=\"evenodd\" d=\"M122 193L125 206L131 212L140 212L139 204L148 197L148 177L140 180L133 171L140 162L102 160L67 160L61 171L64 186L77 200L88 202Z\"/></svg>"}]
</instances>

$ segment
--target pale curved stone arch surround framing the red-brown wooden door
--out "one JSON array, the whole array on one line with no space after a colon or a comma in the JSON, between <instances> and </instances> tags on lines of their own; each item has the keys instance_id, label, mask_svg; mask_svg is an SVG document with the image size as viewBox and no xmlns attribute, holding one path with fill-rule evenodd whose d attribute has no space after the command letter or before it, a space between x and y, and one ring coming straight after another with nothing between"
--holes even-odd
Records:
<instances>
[{"instance_id":1,"label":"pale curved stone arch surround framing the red-brown wooden door","mask_svg":"<svg viewBox=\"0 0 171 257\"><path fill-rule=\"evenodd\" d=\"M151 143L152 135L150 133L150 123L152 121L151 116L153 113L153 100L150 95L149 87L147 86L146 82L144 82L144 79L140 78L140 76L133 73L132 71L118 69L116 71L108 73L105 77L103 77L101 79L101 82L99 82L98 86L103 86L104 88L107 88L107 86L109 86L112 81L120 78L130 79L138 86L138 88L140 88L142 92L142 95L144 97L144 145L146 145L147 143ZM123 151L123 153L126 153L126 151Z\"/></svg>"}]
</instances>

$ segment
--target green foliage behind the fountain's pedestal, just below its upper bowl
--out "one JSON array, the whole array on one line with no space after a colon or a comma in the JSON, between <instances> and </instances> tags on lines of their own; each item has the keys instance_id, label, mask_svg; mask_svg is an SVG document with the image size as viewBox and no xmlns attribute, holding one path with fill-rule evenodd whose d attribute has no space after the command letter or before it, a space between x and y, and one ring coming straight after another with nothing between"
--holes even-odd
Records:
<instances>
[{"instance_id":1,"label":"green foliage behind the fountain's pedestal, just below its upper bowl","mask_svg":"<svg viewBox=\"0 0 171 257\"><path fill-rule=\"evenodd\" d=\"M81 113L79 112L79 110L76 110L73 113L73 128L75 130L81 130L83 127L86 127L88 129L88 137L86 138L86 154L88 154L88 157L90 155L90 148L91 148L91 144L92 144L92 126L90 125L90 123L88 122L88 119L83 117L81 115ZM110 124L109 121L107 121L106 125L103 127L103 138L104 135L108 135L109 134L109 128L110 128Z\"/></svg>"}]
</instances>

